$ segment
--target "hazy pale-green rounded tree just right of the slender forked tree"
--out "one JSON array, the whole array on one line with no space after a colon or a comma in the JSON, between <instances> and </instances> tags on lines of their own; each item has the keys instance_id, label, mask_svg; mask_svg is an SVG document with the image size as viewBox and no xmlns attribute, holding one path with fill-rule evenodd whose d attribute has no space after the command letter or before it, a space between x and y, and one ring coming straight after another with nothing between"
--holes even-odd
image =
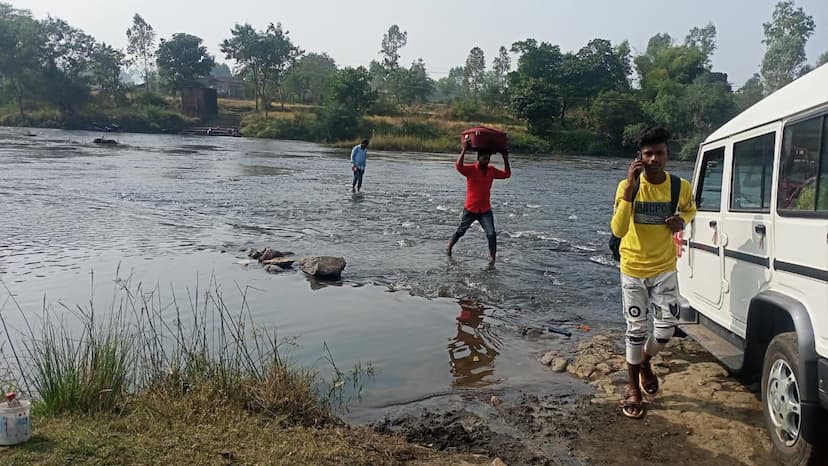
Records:
<instances>
[{"instance_id":1,"label":"hazy pale-green rounded tree just right of the slender forked tree","mask_svg":"<svg viewBox=\"0 0 828 466\"><path fill-rule=\"evenodd\" d=\"M336 62L327 54L309 53L296 61L285 76L285 92L300 102L321 104L330 92Z\"/></svg>"}]
</instances>

